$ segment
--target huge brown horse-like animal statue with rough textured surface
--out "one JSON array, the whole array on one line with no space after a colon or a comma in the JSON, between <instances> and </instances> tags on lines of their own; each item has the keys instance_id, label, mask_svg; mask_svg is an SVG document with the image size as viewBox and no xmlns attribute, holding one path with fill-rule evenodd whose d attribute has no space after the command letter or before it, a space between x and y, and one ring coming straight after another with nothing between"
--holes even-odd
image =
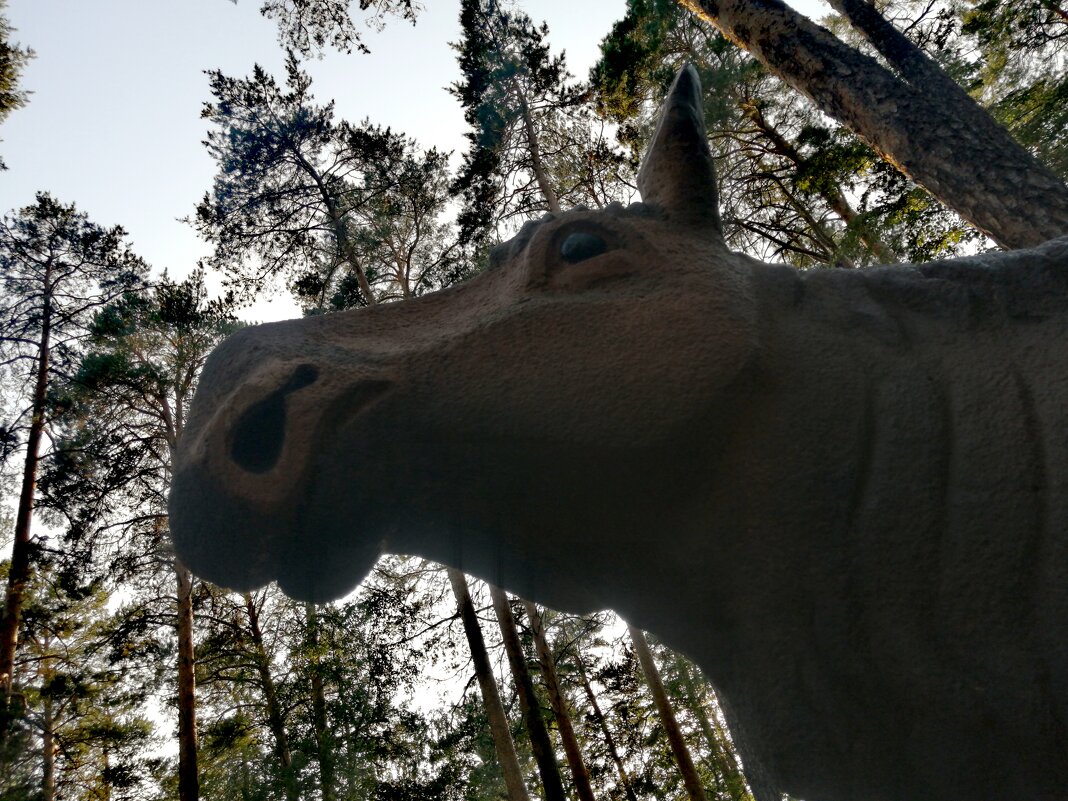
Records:
<instances>
[{"instance_id":1,"label":"huge brown horse-like animal statue with rough textured surface","mask_svg":"<svg viewBox=\"0 0 1068 801\"><path fill-rule=\"evenodd\" d=\"M863 271L732 253L695 82L643 204L227 340L177 460L179 555L325 600L417 553L614 608L810 801L1064 799L1068 238Z\"/></svg>"}]
</instances>

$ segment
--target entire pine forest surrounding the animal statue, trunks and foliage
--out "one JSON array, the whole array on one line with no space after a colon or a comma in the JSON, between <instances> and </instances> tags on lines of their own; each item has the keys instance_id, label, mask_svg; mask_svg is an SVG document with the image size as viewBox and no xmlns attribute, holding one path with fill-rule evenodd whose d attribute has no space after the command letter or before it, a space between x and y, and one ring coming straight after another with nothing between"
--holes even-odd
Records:
<instances>
[{"instance_id":1,"label":"entire pine forest surrounding the animal statue, trunks and foliage","mask_svg":"<svg viewBox=\"0 0 1068 801\"><path fill-rule=\"evenodd\" d=\"M739 763L700 671L614 615L404 557L332 604L231 593L175 559L167 493L200 371L242 303L407 302L529 220L634 199L685 63L735 249L851 269L1065 233L1062 4L832 4L817 27L778 0L628 0L577 78L520 5L462 0L447 91L468 130L449 154L340 119L302 62L374 58L368 28L418 23L420 3L264 0L284 74L207 72L215 172L188 219L210 248L201 265L152 273L121 226L46 191L4 216L0 796L778 799ZM32 56L3 10L0 122L27 100ZM1008 204L993 221L992 199Z\"/></svg>"}]
</instances>

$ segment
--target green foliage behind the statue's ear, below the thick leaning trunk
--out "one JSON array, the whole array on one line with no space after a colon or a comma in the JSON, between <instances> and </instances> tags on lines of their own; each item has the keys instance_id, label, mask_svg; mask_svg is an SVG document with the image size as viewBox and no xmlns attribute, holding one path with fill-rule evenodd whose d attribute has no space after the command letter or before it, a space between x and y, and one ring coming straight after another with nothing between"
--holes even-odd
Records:
<instances>
[{"instance_id":1,"label":"green foliage behind the statue's ear, below the thick leaning trunk","mask_svg":"<svg viewBox=\"0 0 1068 801\"><path fill-rule=\"evenodd\" d=\"M684 63L696 66L705 89L721 213L736 249L798 267L845 267L949 255L975 238L926 193L891 179L866 144L666 0L628 3L591 77L599 112L635 158ZM913 235L917 220L924 230Z\"/></svg>"}]
</instances>

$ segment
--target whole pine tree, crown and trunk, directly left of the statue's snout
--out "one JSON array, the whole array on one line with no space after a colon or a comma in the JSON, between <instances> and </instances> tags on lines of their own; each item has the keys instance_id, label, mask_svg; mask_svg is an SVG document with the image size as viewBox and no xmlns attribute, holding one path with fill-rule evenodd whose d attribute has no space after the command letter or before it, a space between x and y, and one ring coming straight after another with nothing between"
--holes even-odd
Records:
<instances>
[{"instance_id":1,"label":"whole pine tree, crown and trunk, directly left of the statue's snout","mask_svg":"<svg viewBox=\"0 0 1068 801\"><path fill-rule=\"evenodd\" d=\"M128 568L128 581L158 587L161 571L171 574L182 801L200 795L194 581L169 552L167 492L200 370L236 326L230 304L207 299L198 271L177 283L164 278L152 293L127 293L101 310L92 348L68 384L67 403L80 423L72 428L49 486L53 497L80 499L70 535L110 550ZM159 598L152 597L155 592L150 591L148 606Z\"/></svg>"}]
</instances>

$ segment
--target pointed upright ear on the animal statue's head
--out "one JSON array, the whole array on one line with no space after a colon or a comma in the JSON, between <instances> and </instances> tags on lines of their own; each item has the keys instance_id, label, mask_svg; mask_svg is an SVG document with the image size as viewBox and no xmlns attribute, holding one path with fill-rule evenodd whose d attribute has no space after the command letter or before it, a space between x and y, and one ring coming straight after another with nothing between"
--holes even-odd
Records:
<instances>
[{"instance_id":1,"label":"pointed upright ear on the animal statue's head","mask_svg":"<svg viewBox=\"0 0 1068 801\"><path fill-rule=\"evenodd\" d=\"M657 132L638 171L638 190L645 203L659 206L670 218L720 237L716 167L704 117L701 79L687 64L675 76L660 110Z\"/></svg>"}]
</instances>

